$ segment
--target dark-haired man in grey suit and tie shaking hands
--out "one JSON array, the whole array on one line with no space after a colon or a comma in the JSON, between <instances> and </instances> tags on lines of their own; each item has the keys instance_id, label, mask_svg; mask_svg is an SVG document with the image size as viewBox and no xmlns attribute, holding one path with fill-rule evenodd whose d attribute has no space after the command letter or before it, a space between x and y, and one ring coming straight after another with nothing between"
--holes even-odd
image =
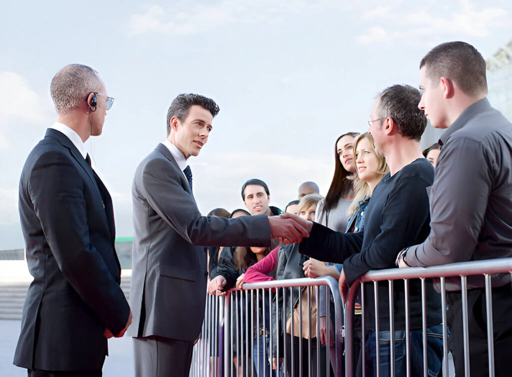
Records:
<instances>
[{"instance_id":1,"label":"dark-haired man in grey suit and tie shaking hands","mask_svg":"<svg viewBox=\"0 0 512 377\"><path fill-rule=\"evenodd\" d=\"M204 319L206 246L270 246L271 237L307 237L293 219L201 216L186 160L208 140L217 104L179 95L167 112L167 139L138 166L132 188L131 301L135 375L187 376Z\"/></svg>"}]
</instances>

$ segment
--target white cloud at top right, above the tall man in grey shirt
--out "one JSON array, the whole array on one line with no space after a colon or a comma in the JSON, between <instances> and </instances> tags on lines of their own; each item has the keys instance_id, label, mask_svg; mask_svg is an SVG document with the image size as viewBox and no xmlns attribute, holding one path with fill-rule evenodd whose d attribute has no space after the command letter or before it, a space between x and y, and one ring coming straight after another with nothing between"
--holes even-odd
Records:
<instances>
[{"instance_id":1,"label":"white cloud at top right, above the tall man in grey shirt","mask_svg":"<svg viewBox=\"0 0 512 377\"><path fill-rule=\"evenodd\" d=\"M480 4L480 3L478 3ZM498 7L477 10L475 4L459 0L453 11L440 11L437 6L431 11L410 11L401 4L379 7L362 14L361 18L372 26L357 36L361 44L382 43L400 40L416 42L418 37L486 37L493 29L508 26L508 12ZM436 13L434 13L436 12ZM439 14L439 15L433 15ZM446 14L443 16L443 14ZM382 21L382 25L378 25Z\"/></svg>"}]
</instances>

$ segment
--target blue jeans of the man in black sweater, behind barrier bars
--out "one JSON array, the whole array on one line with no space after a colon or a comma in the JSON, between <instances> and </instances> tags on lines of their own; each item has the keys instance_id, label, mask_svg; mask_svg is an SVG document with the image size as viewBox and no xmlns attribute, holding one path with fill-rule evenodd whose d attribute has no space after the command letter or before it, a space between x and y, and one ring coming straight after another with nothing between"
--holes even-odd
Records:
<instances>
[{"instance_id":1,"label":"blue jeans of the man in black sweater, behind barrier bars","mask_svg":"<svg viewBox=\"0 0 512 377\"><path fill-rule=\"evenodd\" d=\"M429 377L437 376L441 369L443 358L443 327L442 325L428 327L426 329L427 337L427 366L429 368ZM411 334L411 376L423 375L423 340L422 331L413 330ZM390 332L379 331L379 352L380 352L380 375L389 376L390 371ZM407 375L406 358L406 332L403 330L395 331L395 375ZM375 331L367 332L366 340L366 373L367 375L377 375L377 348L375 344Z\"/></svg>"}]
</instances>

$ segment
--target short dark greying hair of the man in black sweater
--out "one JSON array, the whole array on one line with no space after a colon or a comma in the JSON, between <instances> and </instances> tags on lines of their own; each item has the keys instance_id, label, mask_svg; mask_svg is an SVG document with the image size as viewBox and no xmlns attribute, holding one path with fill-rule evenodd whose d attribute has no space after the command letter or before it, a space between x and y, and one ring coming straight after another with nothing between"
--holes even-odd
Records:
<instances>
[{"instance_id":1,"label":"short dark greying hair of the man in black sweater","mask_svg":"<svg viewBox=\"0 0 512 377\"><path fill-rule=\"evenodd\" d=\"M411 85L393 85L379 94L380 118L391 118L404 138L420 140L426 117L418 108L421 93Z\"/></svg>"}]
</instances>

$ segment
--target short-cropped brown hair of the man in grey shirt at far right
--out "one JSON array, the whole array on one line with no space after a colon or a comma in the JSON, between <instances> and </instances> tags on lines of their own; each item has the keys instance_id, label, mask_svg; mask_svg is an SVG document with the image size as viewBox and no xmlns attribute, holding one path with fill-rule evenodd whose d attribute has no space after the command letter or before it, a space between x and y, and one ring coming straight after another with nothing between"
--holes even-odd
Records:
<instances>
[{"instance_id":1,"label":"short-cropped brown hair of the man in grey shirt at far right","mask_svg":"<svg viewBox=\"0 0 512 377\"><path fill-rule=\"evenodd\" d=\"M469 43L442 43L421 59L419 68L423 66L426 66L431 79L439 80L446 77L453 80L467 95L487 94L485 59Z\"/></svg>"}]
</instances>

